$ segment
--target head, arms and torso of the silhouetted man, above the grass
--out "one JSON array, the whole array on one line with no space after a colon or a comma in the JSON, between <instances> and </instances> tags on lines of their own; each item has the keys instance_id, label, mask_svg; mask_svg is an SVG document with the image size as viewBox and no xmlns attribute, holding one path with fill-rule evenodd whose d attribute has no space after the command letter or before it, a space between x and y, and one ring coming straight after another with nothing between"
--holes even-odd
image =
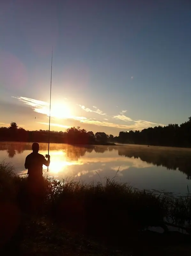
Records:
<instances>
[{"instance_id":1,"label":"head, arms and torso of the silhouetted man, above the grass","mask_svg":"<svg viewBox=\"0 0 191 256\"><path fill-rule=\"evenodd\" d=\"M33 152L30 153L25 160L25 169L28 169L28 177L38 179L42 177L42 165L49 166L50 156L46 155L48 160L43 155L39 154L39 144L34 142L32 145Z\"/></svg>"}]
</instances>

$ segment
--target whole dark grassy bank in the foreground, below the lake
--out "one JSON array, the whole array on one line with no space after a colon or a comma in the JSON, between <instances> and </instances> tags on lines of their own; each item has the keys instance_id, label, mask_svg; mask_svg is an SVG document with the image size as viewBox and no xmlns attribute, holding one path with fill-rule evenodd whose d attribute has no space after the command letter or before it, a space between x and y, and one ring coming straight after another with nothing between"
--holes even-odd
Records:
<instances>
[{"instance_id":1,"label":"whole dark grassy bank in the foreground, below the lake","mask_svg":"<svg viewBox=\"0 0 191 256\"><path fill-rule=\"evenodd\" d=\"M0 163L0 245L4 250L15 251L15 245L26 254L33 250L50 255L136 255L134 245L141 244L150 255L148 250L161 241L168 247L177 239L186 246L187 235L181 239L165 234L169 223L190 233L189 193L180 199L155 196L133 191L128 184L115 182L115 177L105 184L89 185L44 178L44 185L40 206L32 207L27 179L16 176L9 164ZM164 228L165 238L150 235L145 231L149 226Z\"/></svg>"}]
</instances>

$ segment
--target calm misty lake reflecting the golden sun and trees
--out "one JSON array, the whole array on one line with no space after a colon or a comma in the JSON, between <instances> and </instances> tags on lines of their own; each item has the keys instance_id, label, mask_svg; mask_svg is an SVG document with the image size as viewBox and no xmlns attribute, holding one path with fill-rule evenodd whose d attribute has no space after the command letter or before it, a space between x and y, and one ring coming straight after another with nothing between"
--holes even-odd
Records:
<instances>
[{"instance_id":1,"label":"calm misty lake reflecting the golden sun and trees","mask_svg":"<svg viewBox=\"0 0 191 256\"><path fill-rule=\"evenodd\" d=\"M0 142L0 161L11 162L19 175L26 175L25 158L32 143ZM42 155L48 145L40 143ZM50 167L44 175L56 179L105 182L104 177L128 182L137 189L180 196L191 188L191 149L147 147L138 145L71 146L50 145ZM44 166L45 167L45 166ZM99 174L99 175L98 175Z\"/></svg>"}]
</instances>

